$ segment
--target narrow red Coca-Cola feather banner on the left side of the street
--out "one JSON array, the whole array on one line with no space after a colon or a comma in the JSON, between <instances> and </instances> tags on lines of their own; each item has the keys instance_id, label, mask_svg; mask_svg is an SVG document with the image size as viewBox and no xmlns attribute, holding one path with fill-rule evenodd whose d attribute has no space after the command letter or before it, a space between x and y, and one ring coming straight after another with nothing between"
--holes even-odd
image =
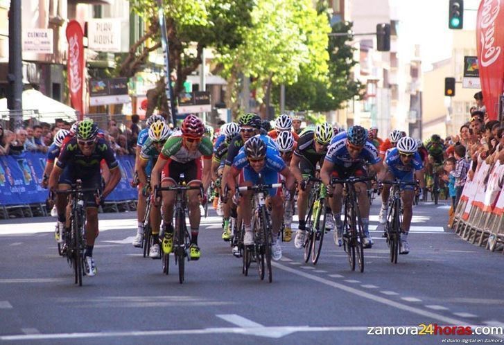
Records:
<instances>
[{"instance_id":1,"label":"narrow red Coca-Cola feather banner on the left side of the street","mask_svg":"<svg viewBox=\"0 0 504 345\"><path fill-rule=\"evenodd\" d=\"M79 120L82 120L84 107L82 104L82 87L84 83L84 46L82 27L76 20L71 20L67 25L68 56L67 76L68 89L70 91L71 104L79 112Z\"/></svg>"}]
</instances>

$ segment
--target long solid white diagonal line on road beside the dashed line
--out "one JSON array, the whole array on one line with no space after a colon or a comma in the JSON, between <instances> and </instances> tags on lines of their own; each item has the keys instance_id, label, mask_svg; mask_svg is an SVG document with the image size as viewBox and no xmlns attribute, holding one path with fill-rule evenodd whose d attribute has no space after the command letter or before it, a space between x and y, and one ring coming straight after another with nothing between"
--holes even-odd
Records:
<instances>
[{"instance_id":1,"label":"long solid white diagonal line on road beside the dashed line","mask_svg":"<svg viewBox=\"0 0 504 345\"><path fill-rule=\"evenodd\" d=\"M319 283L323 283L325 285L329 285L329 286L331 286L333 288L336 288L336 289L339 289L339 290L343 290L343 291L349 292L351 294L356 294L359 297L363 297L365 299L370 299L370 300L375 301L377 303L382 303L382 304L385 304L385 305L393 307L393 308L397 308L397 309L400 309L400 310L405 310L407 312L412 312L413 314L421 315L423 317L428 317L428 318L431 318L431 319L436 319L437 321L441 321L441 322L444 322L446 324L452 324L452 325L465 324L464 321L459 320L459 319L454 319L453 317L446 317L444 315L437 314L435 312L430 312L428 310L423 310L423 309L420 309L420 308L417 308L417 307L408 306L406 304L403 304L403 303L400 303L400 302L397 302L397 301L392 301L390 299L385 299L385 298L383 298L381 296L378 296L376 294L372 294L370 292L365 292L365 291L362 291L362 290L358 290L356 288L351 288L350 286L343 285L341 283L336 283L335 281L329 281L326 278L322 278L320 276L315 276L314 274L309 274L308 272L302 272L302 271L299 271L298 269L295 269L293 267L287 267L287 266L281 265L280 263L272 263L272 265L275 265L275 267L277 267L278 269L282 269L284 271L287 271L287 272L290 272L290 273L293 273L293 274L297 274L298 276L302 276L304 278L309 278L309 279L311 279L313 281L318 281Z\"/></svg>"}]
</instances>

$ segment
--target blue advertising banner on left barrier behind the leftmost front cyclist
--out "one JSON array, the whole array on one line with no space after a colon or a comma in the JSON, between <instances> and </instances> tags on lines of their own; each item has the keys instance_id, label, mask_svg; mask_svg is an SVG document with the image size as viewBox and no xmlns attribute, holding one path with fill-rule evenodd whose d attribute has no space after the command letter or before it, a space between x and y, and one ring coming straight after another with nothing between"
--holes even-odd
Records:
<instances>
[{"instance_id":1,"label":"blue advertising banner on left barrier behind the leftmost front cyclist","mask_svg":"<svg viewBox=\"0 0 504 345\"><path fill-rule=\"evenodd\" d=\"M121 181L107 201L136 200L137 189L130 186L133 179L133 156L118 156ZM19 156L0 156L0 204L15 206L42 204L49 191L40 186L46 155L25 152Z\"/></svg>"}]
</instances>

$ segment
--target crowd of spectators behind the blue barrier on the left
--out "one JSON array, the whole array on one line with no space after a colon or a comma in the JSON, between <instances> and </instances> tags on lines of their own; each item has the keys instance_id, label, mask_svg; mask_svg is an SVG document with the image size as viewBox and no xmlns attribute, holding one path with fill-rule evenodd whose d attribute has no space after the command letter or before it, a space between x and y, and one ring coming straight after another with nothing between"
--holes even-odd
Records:
<instances>
[{"instance_id":1,"label":"crowd of spectators behind the blue barrier on the left","mask_svg":"<svg viewBox=\"0 0 504 345\"><path fill-rule=\"evenodd\" d=\"M106 128L101 128L116 154L135 153L141 130L139 120L138 115L133 115L131 121L118 125L117 121L112 119L108 121ZM23 152L45 153L58 130L70 130L72 124L57 118L53 125L46 122L37 125L24 123L24 127L12 132L0 123L0 156L19 155Z\"/></svg>"}]
</instances>

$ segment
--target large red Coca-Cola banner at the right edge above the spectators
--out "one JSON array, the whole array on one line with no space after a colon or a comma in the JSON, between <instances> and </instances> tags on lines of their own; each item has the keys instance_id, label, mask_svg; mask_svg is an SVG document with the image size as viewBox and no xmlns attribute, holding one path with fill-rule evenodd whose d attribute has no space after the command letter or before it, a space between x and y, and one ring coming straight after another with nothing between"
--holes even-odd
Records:
<instances>
[{"instance_id":1,"label":"large red Coca-Cola banner at the right edge above the spectators","mask_svg":"<svg viewBox=\"0 0 504 345\"><path fill-rule=\"evenodd\" d=\"M504 0L482 0L477 20L481 91L490 120L496 120L504 86Z\"/></svg>"}]
</instances>

